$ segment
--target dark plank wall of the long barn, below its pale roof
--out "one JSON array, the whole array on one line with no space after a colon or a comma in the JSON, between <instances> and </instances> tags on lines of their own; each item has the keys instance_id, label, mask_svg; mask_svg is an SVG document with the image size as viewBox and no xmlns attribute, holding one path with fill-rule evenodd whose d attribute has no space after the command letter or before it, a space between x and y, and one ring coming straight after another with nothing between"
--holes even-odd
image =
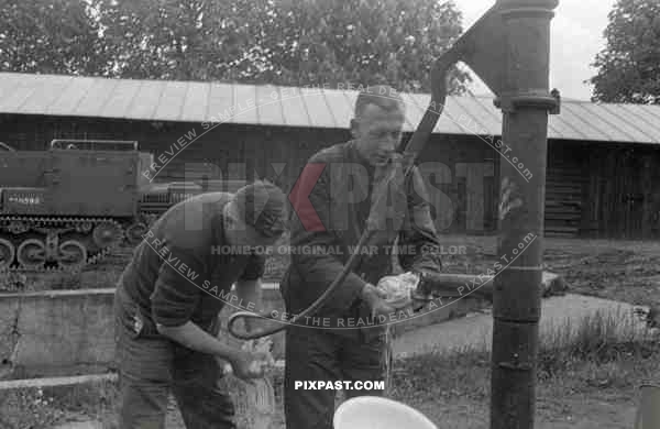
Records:
<instances>
[{"instance_id":1,"label":"dark plank wall of the long barn, below its pale roof","mask_svg":"<svg viewBox=\"0 0 660 429\"><path fill-rule=\"evenodd\" d=\"M193 134L195 142L177 151L177 140ZM349 138L346 130L221 124L209 131L200 123L0 114L0 141L16 148L43 150L54 139L138 140L157 164L166 152L180 152L165 156L172 160L154 182L258 176L286 193L311 154ZM551 140L548 151L548 237L660 235L660 150ZM496 231L499 163L501 155L477 136L431 138L419 166L440 232Z\"/></svg>"}]
</instances>

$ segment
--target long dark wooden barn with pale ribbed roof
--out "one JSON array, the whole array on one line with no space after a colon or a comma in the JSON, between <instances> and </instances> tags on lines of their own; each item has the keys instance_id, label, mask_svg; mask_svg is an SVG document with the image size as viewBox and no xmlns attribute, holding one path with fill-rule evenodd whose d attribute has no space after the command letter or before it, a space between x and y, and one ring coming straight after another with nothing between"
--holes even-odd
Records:
<instances>
[{"instance_id":1,"label":"long dark wooden barn with pale ribbed roof","mask_svg":"<svg viewBox=\"0 0 660 429\"><path fill-rule=\"evenodd\" d=\"M312 153L351 138L356 89L2 73L0 142L138 141L154 182L258 176L288 191ZM402 96L409 139L430 96ZM496 231L499 168L515 157L501 133L493 98L448 98L419 161L443 233ZM659 238L659 185L660 107L563 100L549 117L547 237Z\"/></svg>"}]
</instances>

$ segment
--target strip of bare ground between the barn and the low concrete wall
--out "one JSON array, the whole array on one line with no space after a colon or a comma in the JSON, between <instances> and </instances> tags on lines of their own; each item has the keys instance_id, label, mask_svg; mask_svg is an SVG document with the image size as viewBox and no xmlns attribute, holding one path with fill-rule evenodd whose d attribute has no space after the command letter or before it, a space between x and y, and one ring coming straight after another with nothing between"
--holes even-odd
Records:
<instances>
[{"instance_id":1,"label":"strip of bare ground between the barn and the low concrete wall","mask_svg":"<svg viewBox=\"0 0 660 429\"><path fill-rule=\"evenodd\" d=\"M496 237L442 235L447 273L486 273L497 258ZM283 241L284 243L285 241ZM560 274L576 294L660 305L660 242L543 239L546 270ZM15 275L0 282L2 292L114 287L131 257L119 249L98 265L77 275ZM266 282L278 282L288 264L286 255L266 261Z\"/></svg>"}]
</instances>

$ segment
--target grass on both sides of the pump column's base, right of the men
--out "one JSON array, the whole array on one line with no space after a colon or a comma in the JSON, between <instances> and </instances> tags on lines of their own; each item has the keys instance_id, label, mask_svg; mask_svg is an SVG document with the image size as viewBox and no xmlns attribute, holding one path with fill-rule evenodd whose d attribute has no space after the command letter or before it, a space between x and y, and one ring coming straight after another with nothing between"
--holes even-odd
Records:
<instances>
[{"instance_id":1,"label":"grass on both sides of the pump column's base, right of the men","mask_svg":"<svg viewBox=\"0 0 660 429\"><path fill-rule=\"evenodd\" d=\"M540 416L551 421L565 414L565 402L573 396L629 403L636 388L660 369L658 340L658 333L623 312L596 312L542 332L537 360ZM395 362L391 395L443 427L483 427L490 413L491 371L484 345L431 351Z\"/></svg>"}]
</instances>

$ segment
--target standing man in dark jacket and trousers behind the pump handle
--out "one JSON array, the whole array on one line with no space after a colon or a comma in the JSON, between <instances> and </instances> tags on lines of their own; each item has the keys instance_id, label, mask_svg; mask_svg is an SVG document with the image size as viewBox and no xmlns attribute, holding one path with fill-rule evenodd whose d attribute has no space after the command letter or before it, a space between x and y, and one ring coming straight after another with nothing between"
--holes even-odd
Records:
<instances>
[{"instance_id":1,"label":"standing man in dark jacket and trousers behind the pump handle","mask_svg":"<svg viewBox=\"0 0 660 429\"><path fill-rule=\"evenodd\" d=\"M340 254L330 251L293 253L292 265L280 288L287 312L298 315L342 272L350 256L350 246L359 242L365 228L374 187L377 188L387 172L398 168L393 185L387 189L389 195L382 200L392 200L388 206L393 210L387 213L386 207L375 208L391 222L380 226L369 243L369 253L360 255L362 263L328 297L317 314L307 319L306 324L287 329L287 429L332 429L336 393L297 389L296 382L384 380L385 327L367 324L374 320L372 315L391 320L389 316L395 312L375 285L380 278L392 274L392 249L396 239L402 249L406 249L399 255L404 271L440 272L439 258L424 251L438 249L439 239L419 170L414 168L411 177L404 179L402 163L398 162L400 155L396 150L404 112L400 96L388 86L370 87L361 92L355 105L355 118L351 121L354 140L315 154L298 180L298 195L293 195L299 221L292 224L290 245L294 249L342 250ZM351 178L354 180L349 185ZM351 196L349 189L354 189ZM350 198L353 200L349 201ZM323 323L315 322L315 319ZM348 391L345 394L351 397L382 395L383 392Z\"/></svg>"}]
</instances>

